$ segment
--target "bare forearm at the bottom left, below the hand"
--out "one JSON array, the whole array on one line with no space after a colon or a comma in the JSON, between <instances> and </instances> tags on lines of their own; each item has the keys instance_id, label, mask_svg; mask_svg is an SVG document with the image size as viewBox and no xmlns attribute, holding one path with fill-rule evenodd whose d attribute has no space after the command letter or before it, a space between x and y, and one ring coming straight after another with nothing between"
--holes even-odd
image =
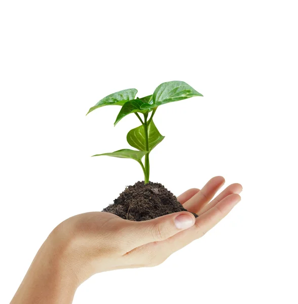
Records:
<instances>
[{"instance_id":1,"label":"bare forearm at the bottom left, below the hand","mask_svg":"<svg viewBox=\"0 0 298 304\"><path fill-rule=\"evenodd\" d=\"M63 249L50 235L36 254L11 304L70 304L78 285Z\"/></svg>"}]
</instances>

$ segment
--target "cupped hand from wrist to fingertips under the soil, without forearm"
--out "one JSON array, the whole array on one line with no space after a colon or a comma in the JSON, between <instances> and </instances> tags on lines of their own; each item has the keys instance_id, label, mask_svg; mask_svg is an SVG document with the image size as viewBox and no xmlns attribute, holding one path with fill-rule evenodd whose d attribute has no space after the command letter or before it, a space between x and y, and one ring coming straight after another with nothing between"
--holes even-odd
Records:
<instances>
[{"instance_id":1,"label":"cupped hand from wrist to fingertips under the soil, without forearm","mask_svg":"<svg viewBox=\"0 0 298 304\"><path fill-rule=\"evenodd\" d=\"M217 176L201 191L190 189L178 197L198 218L190 212L177 212L136 222L111 213L91 212L62 222L54 238L61 239L62 235L64 256L79 283L103 271L158 265L202 237L240 201L242 186L232 184L210 202L224 182Z\"/></svg>"}]
</instances>

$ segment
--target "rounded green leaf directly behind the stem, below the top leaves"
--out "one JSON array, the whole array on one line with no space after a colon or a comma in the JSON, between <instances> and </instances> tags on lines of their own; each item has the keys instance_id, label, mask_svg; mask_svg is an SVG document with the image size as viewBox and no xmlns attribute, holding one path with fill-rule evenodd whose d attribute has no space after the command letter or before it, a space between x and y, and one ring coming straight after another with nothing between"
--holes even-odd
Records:
<instances>
[{"instance_id":1,"label":"rounded green leaf directly behind the stem, below the top leaves","mask_svg":"<svg viewBox=\"0 0 298 304\"><path fill-rule=\"evenodd\" d=\"M148 126L148 142L149 142L148 153L150 153L151 150L154 147L156 147L164 138L165 137L159 133L154 122L151 121ZM137 148L140 151L146 150L145 131L144 131L143 126L139 126L137 128L130 130L127 134L126 139L127 139L127 142L134 148Z\"/></svg>"}]
</instances>

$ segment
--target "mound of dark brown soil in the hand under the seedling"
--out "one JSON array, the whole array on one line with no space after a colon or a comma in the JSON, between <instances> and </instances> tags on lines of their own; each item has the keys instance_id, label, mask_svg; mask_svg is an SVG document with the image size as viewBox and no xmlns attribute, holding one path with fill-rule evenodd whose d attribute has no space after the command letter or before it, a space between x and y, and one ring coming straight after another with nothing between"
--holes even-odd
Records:
<instances>
[{"instance_id":1,"label":"mound of dark brown soil in the hand under the seedling","mask_svg":"<svg viewBox=\"0 0 298 304\"><path fill-rule=\"evenodd\" d=\"M126 187L119 198L114 200L114 204L102 211L114 213L124 219L142 221L187 210L162 184L151 181L144 184L143 181L138 181L133 186Z\"/></svg>"}]
</instances>

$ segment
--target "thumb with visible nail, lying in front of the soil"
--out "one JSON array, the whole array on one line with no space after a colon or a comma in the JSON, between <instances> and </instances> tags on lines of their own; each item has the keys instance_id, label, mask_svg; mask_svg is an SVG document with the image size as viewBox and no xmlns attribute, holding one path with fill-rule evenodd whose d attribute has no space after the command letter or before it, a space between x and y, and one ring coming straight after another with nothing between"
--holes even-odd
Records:
<instances>
[{"instance_id":1,"label":"thumb with visible nail, lying in front of the soil","mask_svg":"<svg viewBox=\"0 0 298 304\"><path fill-rule=\"evenodd\" d=\"M134 245L136 247L151 242L163 241L195 223L195 216L188 212L176 212L151 220L132 222Z\"/></svg>"}]
</instances>

